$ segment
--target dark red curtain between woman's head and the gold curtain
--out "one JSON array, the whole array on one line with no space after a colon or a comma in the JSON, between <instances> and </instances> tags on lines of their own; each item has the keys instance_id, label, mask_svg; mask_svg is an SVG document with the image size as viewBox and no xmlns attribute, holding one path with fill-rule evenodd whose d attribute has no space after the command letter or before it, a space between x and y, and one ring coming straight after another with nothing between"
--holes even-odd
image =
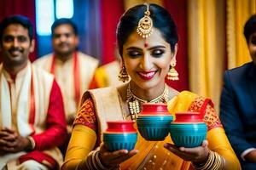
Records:
<instances>
[{"instance_id":1,"label":"dark red curtain between woman's head and the gold curtain","mask_svg":"<svg viewBox=\"0 0 256 170\"><path fill-rule=\"evenodd\" d=\"M167 84L179 91L189 90L189 69L188 69L188 44L187 44L187 1L186 0L165 0L165 7L172 14L177 25L178 50L176 70L179 74L178 81L166 81Z\"/></svg>"}]
</instances>

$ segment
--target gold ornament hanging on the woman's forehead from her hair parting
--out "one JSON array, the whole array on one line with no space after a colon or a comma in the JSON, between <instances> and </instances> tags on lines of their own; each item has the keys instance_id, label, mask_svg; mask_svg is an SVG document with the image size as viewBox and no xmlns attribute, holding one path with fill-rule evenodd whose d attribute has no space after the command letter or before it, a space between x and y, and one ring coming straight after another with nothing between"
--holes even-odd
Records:
<instances>
[{"instance_id":1,"label":"gold ornament hanging on the woman's forehead from her hair parting","mask_svg":"<svg viewBox=\"0 0 256 170\"><path fill-rule=\"evenodd\" d=\"M150 18L150 11L148 3L145 3L147 10L144 12L144 16L138 22L137 33L143 38L149 37L153 32L153 21Z\"/></svg>"}]
</instances>

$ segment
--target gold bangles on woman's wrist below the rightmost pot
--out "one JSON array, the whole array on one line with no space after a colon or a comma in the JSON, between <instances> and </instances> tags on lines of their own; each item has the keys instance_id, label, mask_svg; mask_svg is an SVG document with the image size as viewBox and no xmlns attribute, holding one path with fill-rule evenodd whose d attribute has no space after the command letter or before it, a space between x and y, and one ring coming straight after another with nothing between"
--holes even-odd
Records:
<instances>
[{"instance_id":1,"label":"gold bangles on woman's wrist below the rightmost pot","mask_svg":"<svg viewBox=\"0 0 256 170\"><path fill-rule=\"evenodd\" d=\"M203 165L195 165L196 170L218 170L220 167L223 167L222 157L218 153L209 150L209 156L207 161Z\"/></svg>"}]
</instances>

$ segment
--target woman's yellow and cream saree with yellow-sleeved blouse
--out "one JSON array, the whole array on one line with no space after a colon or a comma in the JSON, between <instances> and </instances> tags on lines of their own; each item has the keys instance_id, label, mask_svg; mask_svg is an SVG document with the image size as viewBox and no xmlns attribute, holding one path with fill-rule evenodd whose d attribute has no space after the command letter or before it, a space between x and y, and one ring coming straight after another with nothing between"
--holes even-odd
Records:
<instances>
[{"instance_id":1,"label":"woman's yellow and cream saree with yellow-sleeved blouse","mask_svg":"<svg viewBox=\"0 0 256 170\"><path fill-rule=\"evenodd\" d=\"M98 134L90 127L76 124L73 128L72 138L67 149L65 163L62 166L63 169L76 167L80 161L86 158L90 150L94 150L96 147L96 139L101 136L107 121L112 119L122 120L123 109L121 105L124 101L122 101L118 91L115 88L112 88L113 90L111 90L111 88L103 89L104 88L90 92L96 110ZM88 99L88 95L87 97L84 95L82 103L86 103L84 102L85 99ZM113 100L115 100L115 102L113 102ZM239 161L230 146L224 129L218 120L218 116L216 116L216 112L213 110L212 106L208 105L205 101L206 99L200 99L196 94L184 91L177 94L177 96L168 102L168 110L171 114L174 114L177 111L201 111L201 108L206 106L205 112L207 112L207 114L205 115L205 122L207 122L208 125L207 140L209 149L218 152L220 156L224 157L226 169L240 169ZM90 114L83 115L82 112L83 111L79 111L80 116L79 114L78 116L80 118L87 117L88 119ZM155 142L144 140L138 133L136 149L139 150L139 152L137 155L121 163L120 169L193 169L191 162L183 161L183 159L172 154L169 150L166 150L163 147L165 143L172 143L170 135L168 135L164 141Z\"/></svg>"}]
</instances>

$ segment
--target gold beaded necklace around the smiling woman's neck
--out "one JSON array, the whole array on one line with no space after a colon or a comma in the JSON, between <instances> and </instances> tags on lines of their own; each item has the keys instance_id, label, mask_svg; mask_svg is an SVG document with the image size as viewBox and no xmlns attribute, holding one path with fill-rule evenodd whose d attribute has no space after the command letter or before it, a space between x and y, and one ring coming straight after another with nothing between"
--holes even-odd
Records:
<instances>
[{"instance_id":1,"label":"gold beaded necklace around the smiling woman's neck","mask_svg":"<svg viewBox=\"0 0 256 170\"><path fill-rule=\"evenodd\" d=\"M128 106L129 106L131 120L136 120L137 114L139 114L142 110L143 103L167 103L168 95L169 95L168 88L167 88L167 85L165 84L165 89L163 94L160 94L155 99L152 99L150 101L147 101L145 99L140 99L139 97L137 97L135 94L131 92L131 84L129 83L127 88L126 102L128 103Z\"/></svg>"}]
</instances>

